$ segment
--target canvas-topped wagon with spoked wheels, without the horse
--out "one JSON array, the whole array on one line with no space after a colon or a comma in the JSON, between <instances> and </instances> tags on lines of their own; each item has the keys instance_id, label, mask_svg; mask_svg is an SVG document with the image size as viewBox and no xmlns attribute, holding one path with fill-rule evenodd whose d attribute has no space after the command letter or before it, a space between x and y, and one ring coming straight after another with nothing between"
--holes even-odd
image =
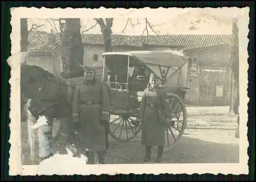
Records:
<instances>
[{"instance_id":1,"label":"canvas-topped wagon with spoked wheels, without the horse","mask_svg":"<svg viewBox=\"0 0 256 182\"><path fill-rule=\"evenodd\" d=\"M104 65L102 80L111 90L111 119L110 135L115 140L129 141L139 134L141 129L138 118L140 100L143 90L147 87L151 73L158 77L159 85L169 97L169 102L174 118L180 119L182 123L179 136L173 144L175 145L186 125L186 111L184 97L187 88L188 67L190 58L175 51L126 51L126 52L107 52L103 53ZM120 119L121 121L117 121ZM174 121L169 125L173 127ZM119 135L114 133L119 126ZM169 127L167 125L167 129ZM127 127L131 132L127 132ZM175 127L175 126L174 126ZM126 133L126 138L121 136ZM166 132L172 135L173 132ZM167 149L172 148L168 146Z\"/></svg>"}]
</instances>

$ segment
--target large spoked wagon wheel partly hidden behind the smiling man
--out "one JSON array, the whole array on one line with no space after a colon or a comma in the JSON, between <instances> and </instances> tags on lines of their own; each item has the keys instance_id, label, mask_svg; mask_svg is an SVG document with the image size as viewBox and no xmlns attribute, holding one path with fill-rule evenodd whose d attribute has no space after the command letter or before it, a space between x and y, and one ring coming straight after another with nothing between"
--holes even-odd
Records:
<instances>
[{"instance_id":1,"label":"large spoked wagon wheel partly hidden behind the smiling man","mask_svg":"<svg viewBox=\"0 0 256 182\"><path fill-rule=\"evenodd\" d=\"M186 108L181 98L173 93L168 93L172 117L166 123L164 151L168 151L179 143L186 127ZM157 150L157 147L153 147Z\"/></svg>"}]
</instances>

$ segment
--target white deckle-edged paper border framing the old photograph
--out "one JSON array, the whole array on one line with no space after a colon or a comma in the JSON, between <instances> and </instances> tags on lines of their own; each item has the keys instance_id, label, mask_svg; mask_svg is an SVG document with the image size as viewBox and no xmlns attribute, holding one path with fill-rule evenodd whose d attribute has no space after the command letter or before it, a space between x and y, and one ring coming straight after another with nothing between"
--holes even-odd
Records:
<instances>
[{"instance_id":1,"label":"white deckle-edged paper border framing the old photograph","mask_svg":"<svg viewBox=\"0 0 256 182\"><path fill-rule=\"evenodd\" d=\"M223 16L237 16L239 28L239 83L240 83L240 139L239 139L239 163L232 164L112 164L112 165L87 165L82 169L72 168L67 165L67 169L61 168L58 170L58 165L48 166L48 169L42 169L38 166L22 166L21 164L21 143L20 143L20 60L22 56L20 51L20 18L74 18L74 17L168 17L177 8L143 8L143 9L86 9L86 8L26 8L18 7L11 8L11 57L8 59L8 64L11 67L11 95L10 95L10 159L9 159L9 175L72 175L72 174L248 174L248 154L249 146L247 139L247 121L248 121L248 106L249 98L247 96L248 84L248 51L247 46L249 39L247 38L249 29L249 7L222 7L222 8L205 8L209 11L216 11ZM179 8L182 9L182 8ZM190 8L184 8L184 11ZM195 9L195 8L194 8ZM156 16L157 14L157 16ZM63 164L62 164L63 165ZM65 164L64 164L65 165Z\"/></svg>"}]
</instances>

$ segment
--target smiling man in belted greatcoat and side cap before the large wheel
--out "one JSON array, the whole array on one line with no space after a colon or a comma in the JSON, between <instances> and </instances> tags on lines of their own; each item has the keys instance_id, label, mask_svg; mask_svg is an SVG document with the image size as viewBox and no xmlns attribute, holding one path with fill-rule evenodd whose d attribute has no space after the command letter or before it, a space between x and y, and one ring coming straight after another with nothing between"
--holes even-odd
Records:
<instances>
[{"instance_id":1,"label":"smiling man in belted greatcoat and side cap before the large wheel","mask_svg":"<svg viewBox=\"0 0 256 182\"><path fill-rule=\"evenodd\" d=\"M158 146L158 155L155 162L162 161L166 131L165 123L166 121L169 121L169 113L170 108L167 101L167 95L159 87L157 76L152 73L150 75L150 83L144 90L139 112L139 117L142 121L141 144L145 145L146 153L143 159L144 161L149 161L151 159L152 146Z\"/></svg>"}]
</instances>

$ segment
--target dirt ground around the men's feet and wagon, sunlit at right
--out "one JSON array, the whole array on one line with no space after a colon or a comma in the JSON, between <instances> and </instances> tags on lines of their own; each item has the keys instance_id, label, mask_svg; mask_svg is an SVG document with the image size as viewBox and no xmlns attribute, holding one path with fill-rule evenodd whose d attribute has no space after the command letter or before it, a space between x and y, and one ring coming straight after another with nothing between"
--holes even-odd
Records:
<instances>
[{"instance_id":1,"label":"dirt ground around the men's feet and wagon, sunlit at right","mask_svg":"<svg viewBox=\"0 0 256 182\"><path fill-rule=\"evenodd\" d=\"M234 137L237 116L228 114L228 107L187 107L187 125L179 143L163 154L162 163L239 163L239 143ZM55 123L55 125L58 125ZM29 160L26 123L22 123L24 164ZM119 142L109 136L107 164L143 163L144 146L140 135L131 141ZM55 147L57 144L55 145ZM152 150L154 163L157 151Z\"/></svg>"}]
</instances>

